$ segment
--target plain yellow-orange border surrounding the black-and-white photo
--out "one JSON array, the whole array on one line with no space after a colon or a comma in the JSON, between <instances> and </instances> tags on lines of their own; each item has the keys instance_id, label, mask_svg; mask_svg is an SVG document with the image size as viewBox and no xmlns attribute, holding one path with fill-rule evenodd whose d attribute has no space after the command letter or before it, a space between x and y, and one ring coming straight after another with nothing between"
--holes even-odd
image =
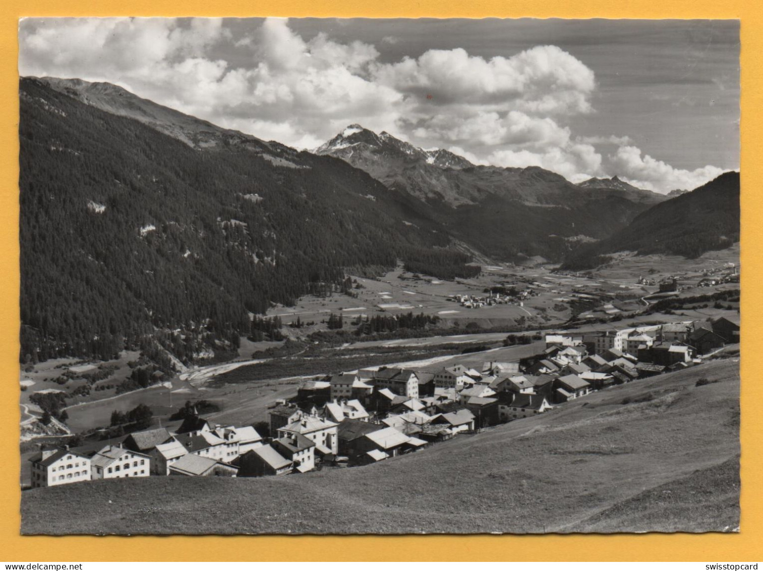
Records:
<instances>
[{"instance_id":1,"label":"plain yellow-orange border surrounding the black-and-white photo","mask_svg":"<svg viewBox=\"0 0 763 571\"><path fill-rule=\"evenodd\" d=\"M739 534L363 537L22 537L18 489L18 18L24 16L314 16L369 18L739 18L742 21L742 531ZM11 0L0 5L0 560L6 561L755 561L763 553L761 420L754 340L763 279L763 9L758 0ZM539 490L542 493L542 490ZM552 492L552 491L549 491Z\"/></svg>"}]
</instances>

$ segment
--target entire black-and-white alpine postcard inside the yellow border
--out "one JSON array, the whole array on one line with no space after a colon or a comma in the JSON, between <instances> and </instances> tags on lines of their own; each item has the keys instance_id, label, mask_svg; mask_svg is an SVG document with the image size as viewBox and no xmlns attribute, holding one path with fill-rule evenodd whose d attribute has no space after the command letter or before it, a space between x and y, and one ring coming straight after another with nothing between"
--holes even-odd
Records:
<instances>
[{"instance_id":1,"label":"entire black-and-white alpine postcard inside the yellow border","mask_svg":"<svg viewBox=\"0 0 763 571\"><path fill-rule=\"evenodd\" d=\"M19 21L22 534L739 531L739 21Z\"/></svg>"}]
</instances>

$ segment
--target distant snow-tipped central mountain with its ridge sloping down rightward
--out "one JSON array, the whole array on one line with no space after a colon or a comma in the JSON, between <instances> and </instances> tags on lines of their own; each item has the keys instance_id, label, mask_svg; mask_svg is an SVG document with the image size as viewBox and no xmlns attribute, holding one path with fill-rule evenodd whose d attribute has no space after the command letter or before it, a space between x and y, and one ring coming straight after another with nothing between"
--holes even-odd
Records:
<instances>
[{"instance_id":1,"label":"distant snow-tipped central mountain with its ridge sloping down rightward","mask_svg":"<svg viewBox=\"0 0 763 571\"><path fill-rule=\"evenodd\" d=\"M450 234L498 260L562 260L580 237L608 237L665 200L624 183L574 185L537 166L475 166L447 150L423 150L357 124L315 152L346 160L417 198L420 211Z\"/></svg>"}]
</instances>

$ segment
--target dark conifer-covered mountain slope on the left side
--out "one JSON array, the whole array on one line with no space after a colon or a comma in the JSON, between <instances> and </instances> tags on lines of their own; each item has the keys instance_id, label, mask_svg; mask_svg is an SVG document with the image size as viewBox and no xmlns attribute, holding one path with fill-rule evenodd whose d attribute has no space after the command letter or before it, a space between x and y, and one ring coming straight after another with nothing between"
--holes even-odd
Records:
<instances>
[{"instance_id":1,"label":"dark conifer-covered mountain slope on the left side","mask_svg":"<svg viewBox=\"0 0 763 571\"><path fill-rule=\"evenodd\" d=\"M242 134L202 150L46 82L20 88L22 356L109 356L157 328L228 339L346 266L468 261L341 160Z\"/></svg>"}]
</instances>

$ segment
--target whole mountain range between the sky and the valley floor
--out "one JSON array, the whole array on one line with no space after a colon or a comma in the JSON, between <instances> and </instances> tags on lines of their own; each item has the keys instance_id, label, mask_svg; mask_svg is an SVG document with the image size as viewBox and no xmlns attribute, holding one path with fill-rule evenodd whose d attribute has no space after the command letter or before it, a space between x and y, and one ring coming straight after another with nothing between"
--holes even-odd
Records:
<instances>
[{"instance_id":1,"label":"whole mountain range between the sky and the valley floor","mask_svg":"<svg viewBox=\"0 0 763 571\"><path fill-rule=\"evenodd\" d=\"M718 189L723 221L673 253L739 240L735 175L668 198L477 166L356 124L298 151L108 83L27 77L20 101L22 360L232 351L253 315L398 261L438 279L476 263L581 268L648 250L665 217L705 223Z\"/></svg>"}]
</instances>

